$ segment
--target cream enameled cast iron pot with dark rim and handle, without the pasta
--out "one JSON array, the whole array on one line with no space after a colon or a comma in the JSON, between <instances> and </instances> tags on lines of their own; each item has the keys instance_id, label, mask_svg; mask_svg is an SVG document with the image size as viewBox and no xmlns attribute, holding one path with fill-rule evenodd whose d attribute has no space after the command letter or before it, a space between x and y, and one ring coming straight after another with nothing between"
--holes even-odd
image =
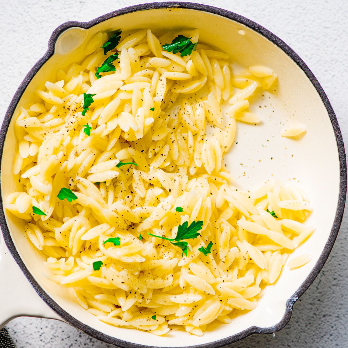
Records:
<instances>
[{"instance_id":1,"label":"cream enameled cast iron pot with dark rim and handle, without the pasta","mask_svg":"<svg viewBox=\"0 0 348 348\"><path fill-rule=\"evenodd\" d=\"M277 89L254 101L262 125L238 125L238 144L226 163L241 187L253 189L278 177L294 181L307 192L314 208L307 223L317 229L291 257L308 253L313 255L312 261L297 270L285 267L277 283L263 292L259 306L231 324L215 325L203 337L183 331L157 337L98 321L64 288L47 280L42 275L43 256L27 241L23 222L4 211L1 204L0 326L10 318L30 315L60 319L120 347L211 348L253 333L273 333L290 320L293 304L318 275L338 234L346 198L345 150L330 102L307 65L282 40L245 17L196 3L158 2L127 7L87 23L62 24L53 32L46 54L19 86L5 115L0 135L1 199L16 190L19 179L12 172L13 115L18 114L18 105L29 106L35 88L53 80L57 69L82 58L86 42L98 31L172 30L188 25L200 30L201 42L226 51L235 62L266 65L278 74ZM296 141L280 136L283 125L293 120L307 127L306 135Z\"/></svg>"}]
</instances>

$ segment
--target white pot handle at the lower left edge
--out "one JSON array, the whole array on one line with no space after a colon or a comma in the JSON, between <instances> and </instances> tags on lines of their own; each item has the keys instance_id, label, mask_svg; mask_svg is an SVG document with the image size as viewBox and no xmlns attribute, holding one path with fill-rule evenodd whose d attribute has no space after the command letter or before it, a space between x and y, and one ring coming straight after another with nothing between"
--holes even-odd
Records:
<instances>
[{"instance_id":1,"label":"white pot handle at the lower left edge","mask_svg":"<svg viewBox=\"0 0 348 348\"><path fill-rule=\"evenodd\" d=\"M0 232L0 329L18 316L62 320L26 279Z\"/></svg>"}]
</instances>

